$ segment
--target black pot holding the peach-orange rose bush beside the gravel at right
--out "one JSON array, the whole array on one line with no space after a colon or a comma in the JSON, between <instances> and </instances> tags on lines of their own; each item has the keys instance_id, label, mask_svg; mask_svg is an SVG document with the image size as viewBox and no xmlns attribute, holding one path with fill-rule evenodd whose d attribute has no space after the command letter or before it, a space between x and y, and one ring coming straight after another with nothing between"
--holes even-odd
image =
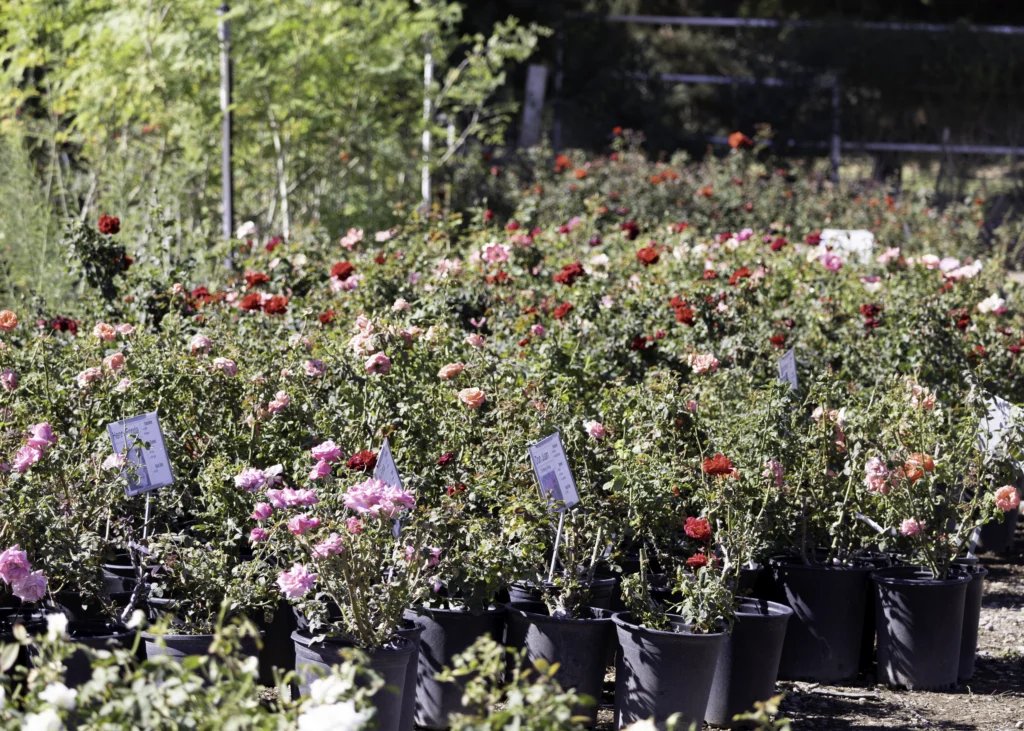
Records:
<instances>
[{"instance_id":1,"label":"black pot holding the peach-orange rose bush beside the gravel at right","mask_svg":"<svg viewBox=\"0 0 1024 731\"><path fill-rule=\"evenodd\" d=\"M955 685L971 575L936 579L918 566L894 566L873 579L879 680L911 690Z\"/></svg>"}]
</instances>

